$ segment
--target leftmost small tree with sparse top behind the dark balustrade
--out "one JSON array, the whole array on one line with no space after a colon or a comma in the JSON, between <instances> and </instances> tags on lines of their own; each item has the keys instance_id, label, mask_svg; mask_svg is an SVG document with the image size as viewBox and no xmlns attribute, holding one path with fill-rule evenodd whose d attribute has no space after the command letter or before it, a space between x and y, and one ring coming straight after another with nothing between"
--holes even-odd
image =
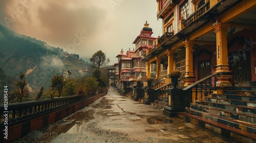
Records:
<instances>
[{"instance_id":1,"label":"leftmost small tree with sparse top behind the dark balustrade","mask_svg":"<svg viewBox=\"0 0 256 143\"><path fill-rule=\"evenodd\" d=\"M19 74L20 81L15 82L16 89L14 89L11 94L9 94L8 99L10 103L13 102L23 102L30 101L31 96L27 88L25 86L28 84L25 80L25 74Z\"/></svg>"}]
</instances>

